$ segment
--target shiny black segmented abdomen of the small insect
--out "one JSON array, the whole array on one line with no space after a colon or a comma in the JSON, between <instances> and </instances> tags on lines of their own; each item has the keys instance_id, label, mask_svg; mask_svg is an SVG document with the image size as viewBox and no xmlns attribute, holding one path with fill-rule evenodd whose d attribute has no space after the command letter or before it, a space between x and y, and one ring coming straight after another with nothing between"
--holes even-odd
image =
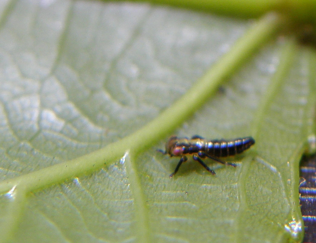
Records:
<instances>
[{"instance_id":1,"label":"shiny black segmented abdomen of the small insect","mask_svg":"<svg viewBox=\"0 0 316 243\"><path fill-rule=\"evenodd\" d=\"M210 140L205 146L205 153L216 157L235 155L248 149L255 140L252 137L236 138L232 141Z\"/></svg>"}]
</instances>

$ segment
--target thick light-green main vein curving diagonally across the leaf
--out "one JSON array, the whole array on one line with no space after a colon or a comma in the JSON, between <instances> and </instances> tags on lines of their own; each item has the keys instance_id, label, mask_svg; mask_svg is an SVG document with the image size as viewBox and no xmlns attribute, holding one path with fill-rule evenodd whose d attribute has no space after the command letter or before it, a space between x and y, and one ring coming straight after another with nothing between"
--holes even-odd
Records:
<instances>
[{"instance_id":1,"label":"thick light-green main vein curving diagonally across the leaf","mask_svg":"<svg viewBox=\"0 0 316 243\"><path fill-rule=\"evenodd\" d=\"M82 157L5 180L0 183L0 192L7 192L14 186L19 187L20 185L25 186L27 191L40 189L92 172L103 167L105 163L114 163L127 150L136 154L151 146L161 137L172 132L202 106L216 92L218 86L268 38L272 37L283 23L283 18L275 13L263 16L234 44L227 54L212 65L187 93L140 130Z\"/></svg>"}]
</instances>

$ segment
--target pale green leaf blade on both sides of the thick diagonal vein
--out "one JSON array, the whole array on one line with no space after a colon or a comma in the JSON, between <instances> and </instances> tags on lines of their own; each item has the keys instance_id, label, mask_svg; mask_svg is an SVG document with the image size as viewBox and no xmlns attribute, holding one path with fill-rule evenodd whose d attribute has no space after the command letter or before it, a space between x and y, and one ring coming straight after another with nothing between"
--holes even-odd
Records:
<instances>
[{"instance_id":1,"label":"pale green leaf blade on both sides of the thick diagonal vein","mask_svg":"<svg viewBox=\"0 0 316 243\"><path fill-rule=\"evenodd\" d=\"M128 3L3 5L2 181L89 154L142 129L194 87L251 26ZM251 150L228 159L237 168L214 163L217 174L211 176L189 159L170 179L178 158L156 152L164 147L161 137L152 147L131 146L124 163L104 158L108 166L90 168L92 174L27 195L16 191L13 199L2 195L0 239L299 240L298 163L312 127L313 65L311 50L290 38L273 40L193 116L179 118L184 123L173 132L178 136L253 136Z\"/></svg>"}]
</instances>

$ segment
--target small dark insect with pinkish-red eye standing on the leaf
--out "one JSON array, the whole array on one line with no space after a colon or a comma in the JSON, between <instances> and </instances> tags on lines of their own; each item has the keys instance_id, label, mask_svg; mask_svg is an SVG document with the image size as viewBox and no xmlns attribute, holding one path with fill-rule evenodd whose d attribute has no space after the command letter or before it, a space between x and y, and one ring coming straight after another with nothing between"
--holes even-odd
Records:
<instances>
[{"instance_id":1,"label":"small dark insect with pinkish-red eye standing on the leaf","mask_svg":"<svg viewBox=\"0 0 316 243\"><path fill-rule=\"evenodd\" d=\"M236 138L233 140L206 140L203 137L195 135L191 139L187 137L169 137L166 143L166 151L158 150L163 154L169 154L170 157L180 156L180 161L177 164L170 178L177 173L181 164L187 161L185 154L193 154L192 158L200 163L207 171L215 175L215 171L210 169L201 158L208 157L222 164L228 164L236 167L234 163L226 163L219 157L227 157L239 154L248 149L255 140L252 137Z\"/></svg>"}]
</instances>

